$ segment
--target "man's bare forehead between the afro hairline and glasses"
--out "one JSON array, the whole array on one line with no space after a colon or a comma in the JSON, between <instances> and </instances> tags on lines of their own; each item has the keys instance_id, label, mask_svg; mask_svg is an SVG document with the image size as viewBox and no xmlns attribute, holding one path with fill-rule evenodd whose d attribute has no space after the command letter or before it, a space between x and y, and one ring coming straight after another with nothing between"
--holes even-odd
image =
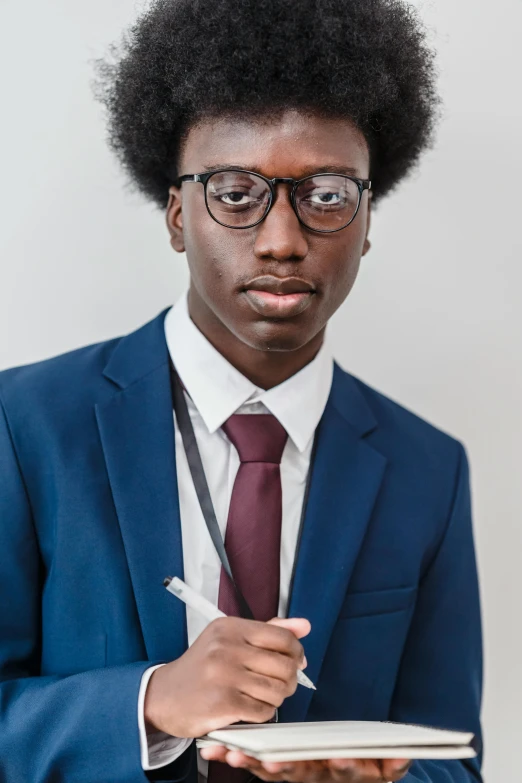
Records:
<instances>
[{"instance_id":1,"label":"man's bare forehead between the afro hairline and glasses","mask_svg":"<svg viewBox=\"0 0 522 783\"><path fill-rule=\"evenodd\" d=\"M370 166L366 140L350 120L297 110L263 120L206 119L189 130L180 153L180 174L237 165L298 179L305 170L346 166L366 178Z\"/></svg>"}]
</instances>

